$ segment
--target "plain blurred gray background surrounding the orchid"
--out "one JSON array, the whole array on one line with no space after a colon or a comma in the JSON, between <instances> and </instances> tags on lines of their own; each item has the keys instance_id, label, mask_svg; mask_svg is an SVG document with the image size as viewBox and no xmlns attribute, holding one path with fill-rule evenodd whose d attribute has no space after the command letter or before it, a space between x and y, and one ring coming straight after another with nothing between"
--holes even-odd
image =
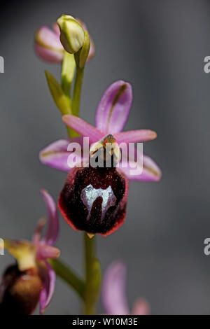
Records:
<instances>
[{"instance_id":1,"label":"plain blurred gray background surrounding the orchid","mask_svg":"<svg viewBox=\"0 0 210 329\"><path fill-rule=\"evenodd\" d=\"M40 188L59 195L66 175L38 161L38 151L66 137L45 83L34 31L60 14L81 18L94 38L96 55L85 70L81 116L94 123L102 93L123 78L134 87L126 130L150 128L156 141L144 151L162 168L160 183L131 183L127 221L110 237L97 237L103 269L127 263L130 306L139 296L152 314L210 313L209 120L210 1L69 0L10 1L1 8L0 237L30 238L45 214ZM83 236L61 218L57 246L62 258L83 269ZM0 270L11 262L0 256ZM78 314L73 291L57 280L46 314ZM99 312L103 311L99 304Z\"/></svg>"}]
</instances>

